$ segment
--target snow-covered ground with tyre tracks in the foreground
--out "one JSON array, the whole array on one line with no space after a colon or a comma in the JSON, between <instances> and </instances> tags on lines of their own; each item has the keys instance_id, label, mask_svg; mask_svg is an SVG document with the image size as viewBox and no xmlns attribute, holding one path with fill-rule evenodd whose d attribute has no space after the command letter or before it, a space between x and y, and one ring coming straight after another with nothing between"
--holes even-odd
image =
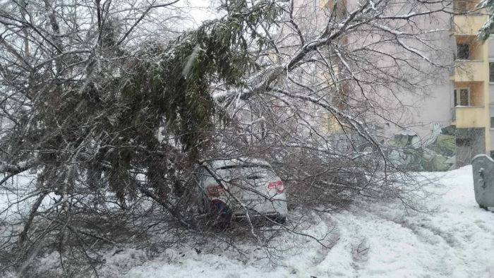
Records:
<instances>
[{"instance_id":1,"label":"snow-covered ground with tyre tracks in the foreground","mask_svg":"<svg viewBox=\"0 0 494 278\"><path fill-rule=\"evenodd\" d=\"M256 250L249 258L185 246L152 260L126 250L102 274L140 256L143 265L129 267L126 277L494 277L494 213L478 207L471 167L426 175L440 177L442 186L430 188L440 194L430 203L437 210L405 213L388 203L321 215L307 232L332 231L330 249L307 238L282 240L284 256L269 262Z\"/></svg>"}]
</instances>

